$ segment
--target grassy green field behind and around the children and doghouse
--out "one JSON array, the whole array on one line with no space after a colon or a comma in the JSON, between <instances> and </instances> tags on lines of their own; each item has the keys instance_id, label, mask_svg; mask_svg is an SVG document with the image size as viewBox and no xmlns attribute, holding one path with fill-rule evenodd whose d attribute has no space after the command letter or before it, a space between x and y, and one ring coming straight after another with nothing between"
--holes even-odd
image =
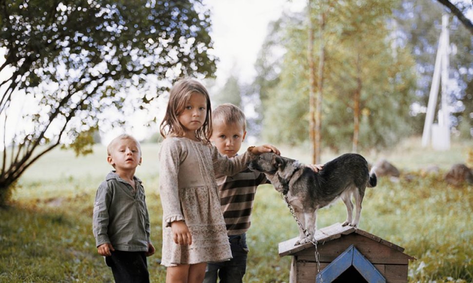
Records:
<instances>
[{"instance_id":1,"label":"grassy green field behind and around the children and doghouse","mask_svg":"<svg viewBox=\"0 0 473 283\"><path fill-rule=\"evenodd\" d=\"M422 149L419 139L397 148L362 153L369 162L384 158L401 170L401 178L379 178L367 189L360 228L405 248L417 260L410 263L410 282L473 281L473 186L453 187L443 174L453 163L467 162L472 143L453 142L452 149ZM164 282L161 254L161 207L158 194L158 150L143 144L143 180L157 253L148 258L152 282ZM281 148L302 162L304 148ZM322 162L336 154L324 152ZM423 169L437 165L440 173ZM34 164L18 182L11 206L0 209L0 282L113 282L110 269L97 254L92 235L95 191L111 167L105 148L76 158L54 150ZM409 177L409 178L408 178ZM342 222L342 202L319 212L318 227ZM271 224L268 224L271 223ZM256 194L250 256L245 282L288 282L290 258L277 254L279 242L297 235L296 222L270 185Z\"/></svg>"}]
</instances>

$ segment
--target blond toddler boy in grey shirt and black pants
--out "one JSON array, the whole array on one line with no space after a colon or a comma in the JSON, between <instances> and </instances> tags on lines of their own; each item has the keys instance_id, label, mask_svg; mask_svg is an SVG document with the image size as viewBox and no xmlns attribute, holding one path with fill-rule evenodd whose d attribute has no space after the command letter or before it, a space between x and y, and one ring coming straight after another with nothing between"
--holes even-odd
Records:
<instances>
[{"instance_id":1,"label":"blond toddler boy in grey shirt and black pants","mask_svg":"<svg viewBox=\"0 0 473 283\"><path fill-rule=\"evenodd\" d=\"M130 135L120 135L107 146L112 170L97 190L93 231L97 250L112 268L115 282L149 282L146 257L155 253L141 181L141 147Z\"/></svg>"}]
</instances>

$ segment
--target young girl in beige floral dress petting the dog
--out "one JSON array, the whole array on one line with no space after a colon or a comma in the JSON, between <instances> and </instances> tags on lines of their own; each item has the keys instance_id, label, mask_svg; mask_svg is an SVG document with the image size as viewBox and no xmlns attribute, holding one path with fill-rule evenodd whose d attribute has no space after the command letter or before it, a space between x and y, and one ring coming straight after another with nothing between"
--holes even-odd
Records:
<instances>
[{"instance_id":1,"label":"young girl in beige floral dress petting the dog","mask_svg":"<svg viewBox=\"0 0 473 283\"><path fill-rule=\"evenodd\" d=\"M254 155L279 151L272 145L250 147L235 158L220 155L209 142L212 111L205 87L178 81L170 92L159 152L159 190L163 208L161 264L166 282L202 282L207 262L232 258L220 210L215 173L232 176Z\"/></svg>"}]
</instances>

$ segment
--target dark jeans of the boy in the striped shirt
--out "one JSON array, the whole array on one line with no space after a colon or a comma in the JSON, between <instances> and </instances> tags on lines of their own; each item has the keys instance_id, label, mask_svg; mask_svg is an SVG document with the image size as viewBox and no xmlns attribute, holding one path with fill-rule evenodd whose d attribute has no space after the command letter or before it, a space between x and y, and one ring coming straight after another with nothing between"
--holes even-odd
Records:
<instances>
[{"instance_id":1,"label":"dark jeans of the boy in the striped shirt","mask_svg":"<svg viewBox=\"0 0 473 283\"><path fill-rule=\"evenodd\" d=\"M230 236L230 248L233 259L221 263L208 263L203 283L216 283L217 276L220 283L241 283L246 272L248 245L246 234Z\"/></svg>"}]
</instances>

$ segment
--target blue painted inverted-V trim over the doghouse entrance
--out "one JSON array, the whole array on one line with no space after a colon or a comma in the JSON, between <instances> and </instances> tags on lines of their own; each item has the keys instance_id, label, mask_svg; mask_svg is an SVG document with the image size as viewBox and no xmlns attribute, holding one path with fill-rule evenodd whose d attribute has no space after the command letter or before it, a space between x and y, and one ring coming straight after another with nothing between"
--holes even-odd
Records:
<instances>
[{"instance_id":1,"label":"blue painted inverted-V trim over the doghouse entrance","mask_svg":"<svg viewBox=\"0 0 473 283\"><path fill-rule=\"evenodd\" d=\"M317 274L315 282L333 282L352 265L366 281L370 283L386 283L386 279L383 275L379 273L374 265L370 263L353 244Z\"/></svg>"}]
</instances>

